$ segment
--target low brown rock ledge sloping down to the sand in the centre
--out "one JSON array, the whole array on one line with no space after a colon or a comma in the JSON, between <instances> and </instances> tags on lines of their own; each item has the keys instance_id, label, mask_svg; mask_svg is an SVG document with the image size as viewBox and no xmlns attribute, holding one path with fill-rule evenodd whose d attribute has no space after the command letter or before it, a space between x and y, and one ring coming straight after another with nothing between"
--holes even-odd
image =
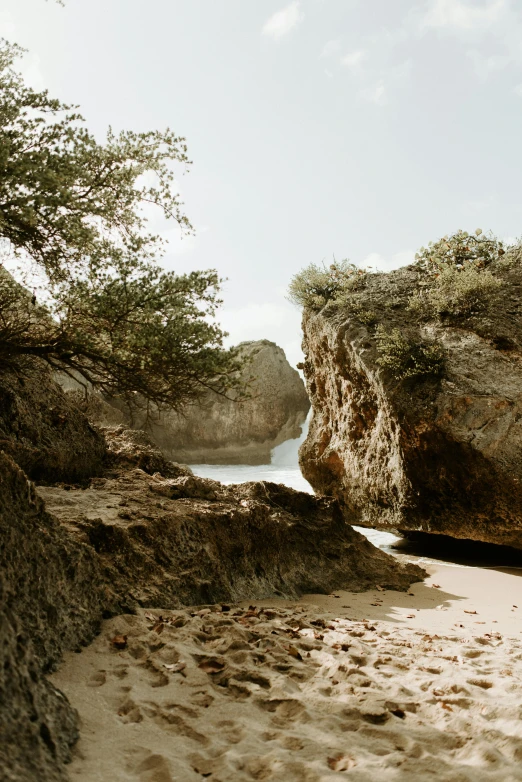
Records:
<instances>
[{"instance_id":1,"label":"low brown rock ledge sloping down to the sand in the centre","mask_svg":"<svg viewBox=\"0 0 522 782\"><path fill-rule=\"evenodd\" d=\"M113 611L375 584L406 589L424 576L348 526L336 500L272 483L223 486L134 469L86 490L39 492L97 552Z\"/></svg>"}]
</instances>

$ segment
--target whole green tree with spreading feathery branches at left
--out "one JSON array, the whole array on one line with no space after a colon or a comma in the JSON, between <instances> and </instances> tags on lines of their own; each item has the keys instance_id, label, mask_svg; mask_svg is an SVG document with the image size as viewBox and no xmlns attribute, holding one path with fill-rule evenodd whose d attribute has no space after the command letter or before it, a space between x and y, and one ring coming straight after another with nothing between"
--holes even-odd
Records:
<instances>
[{"instance_id":1,"label":"whole green tree with spreading feathery branches at left","mask_svg":"<svg viewBox=\"0 0 522 782\"><path fill-rule=\"evenodd\" d=\"M24 84L21 54L0 42L0 238L39 269L45 296L0 275L0 362L39 356L134 403L227 393L240 364L214 320L221 280L163 271L143 216L153 204L193 231L174 187L185 139L109 129L98 143L76 107Z\"/></svg>"}]
</instances>

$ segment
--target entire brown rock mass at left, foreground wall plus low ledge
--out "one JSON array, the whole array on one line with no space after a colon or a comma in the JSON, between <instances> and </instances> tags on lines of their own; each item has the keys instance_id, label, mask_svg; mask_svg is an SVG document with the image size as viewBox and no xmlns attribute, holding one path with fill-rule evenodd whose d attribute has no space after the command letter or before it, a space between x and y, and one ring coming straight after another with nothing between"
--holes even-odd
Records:
<instances>
[{"instance_id":1,"label":"entire brown rock mass at left, foreground wall plus low ledge","mask_svg":"<svg viewBox=\"0 0 522 782\"><path fill-rule=\"evenodd\" d=\"M51 393L61 399L59 389ZM31 419L30 408L13 404ZM38 411L36 421L45 426L26 429L20 422L34 433L32 443L44 432L47 453L61 454L64 442L66 448L76 442L79 456L84 453L81 438L92 433L79 411L68 419L77 425L76 441L72 429L64 441L60 422L55 441L43 403ZM0 452L0 776L6 782L67 778L77 715L45 674L65 650L88 643L102 617L140 606L171 609L305 590L376 584L406 590L424 576L349 527L336 500L263 482L224 487L168 462L142 432L120 426L94 433L93 442L103 437L103 459L93 461L103 474L82 487L35 488ZM16 452L13 440L4 444ZM64 462L56 464L63 478Z\"/></svg>"}]
</instances>

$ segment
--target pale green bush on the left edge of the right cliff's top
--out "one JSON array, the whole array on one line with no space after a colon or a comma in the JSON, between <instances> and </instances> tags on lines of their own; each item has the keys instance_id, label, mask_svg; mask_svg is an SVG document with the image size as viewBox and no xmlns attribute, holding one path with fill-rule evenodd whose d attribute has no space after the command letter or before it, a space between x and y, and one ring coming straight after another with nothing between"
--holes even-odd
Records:
<instances>
[{"instance_id":1,"label":"pale green bush on the left edge of the right cliff's top","mask_svg":"<svg viewBox=\"0 0 522 782\"><path fill-rule=\"evenodd\" d=\"M288 298L294 304L318 312L329 302L343 303L360 286L367 272L347 260L328 268L312 263L296 274L290 283Z\"/></svg>"}]
</instances>

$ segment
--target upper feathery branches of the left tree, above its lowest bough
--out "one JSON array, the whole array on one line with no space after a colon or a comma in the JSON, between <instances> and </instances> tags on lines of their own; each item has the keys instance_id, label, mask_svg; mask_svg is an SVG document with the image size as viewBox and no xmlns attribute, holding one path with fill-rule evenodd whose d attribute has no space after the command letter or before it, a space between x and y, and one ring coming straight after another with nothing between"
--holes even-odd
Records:
<instances>
[{"instance_id":1,"label":"upper feathery branches of the left tree, above its lowest bough","mask_svg":"<svg viewBox=\"0 0 522 782\"><path fill-rule=\"evenodd\" d=\"M20 54L0 45L0 235L54 281L125 253L157 259L163 242L146 233L144 205L192 231L173 188L172 164L190 164L185 139L109 129L99 144L73 107L23 84Z\"/></svg>"}]
</instances>

